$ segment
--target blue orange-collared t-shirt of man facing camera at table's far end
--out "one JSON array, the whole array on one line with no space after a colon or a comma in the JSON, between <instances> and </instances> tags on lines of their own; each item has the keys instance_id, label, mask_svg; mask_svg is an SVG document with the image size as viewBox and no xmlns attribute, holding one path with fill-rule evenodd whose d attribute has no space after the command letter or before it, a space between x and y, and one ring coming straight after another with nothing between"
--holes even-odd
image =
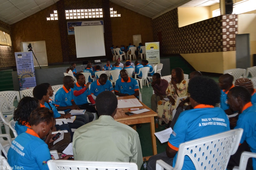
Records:
<instances>
[{"instance_id":1,"label":"blue orange-collared t-shirt of man facing camera at table's far end","mask_svg":"<svg viewBox=\"0 0 256 170\"><path fill-rule=\"evenodd\" d=\"M115 84L115 91L120 91L120 93L122 94L133 95L137 90L139 90L137 80L130 77L128 78L127 82L120 78L117 80Z\"/></svg>"}]
</instances>

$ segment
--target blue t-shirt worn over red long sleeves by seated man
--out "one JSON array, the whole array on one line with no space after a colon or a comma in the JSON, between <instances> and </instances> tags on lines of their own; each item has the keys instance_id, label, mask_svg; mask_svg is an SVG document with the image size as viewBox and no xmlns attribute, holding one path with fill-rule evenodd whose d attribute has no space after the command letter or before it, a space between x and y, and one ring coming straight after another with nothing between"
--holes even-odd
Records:
<instances>
[{"instance_id":1,"label":"blue t-shirt worn over red long sleeves by seated man","mask_svg":"<svg viewBox=\"0 0 256 170\"><path fill-rule=\"evenodd\" d=\"M83 88L86 88L85 84L84 84L84 86L80 86L78 84L78 82L76 82L75 86L73 88L73 92L82 90ZM91 93L89 91L89 88L87 88L84 93L80 94L79 96L74 96L75 104L82 105L82 104L88 103L87 97L90 95L91 95Z\"/></svg>"}]
</instances>

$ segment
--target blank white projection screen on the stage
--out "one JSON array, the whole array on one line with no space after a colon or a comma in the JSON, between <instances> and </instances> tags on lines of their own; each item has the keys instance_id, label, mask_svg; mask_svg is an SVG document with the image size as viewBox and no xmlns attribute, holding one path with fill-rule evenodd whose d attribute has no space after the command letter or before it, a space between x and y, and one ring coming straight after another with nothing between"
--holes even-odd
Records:
<instances>
[{"instance_id":1,"label":"blank white projection screen on the stage","mask_svg":"<svg viewBox=\"0 0 256 170\"><path fill-rule=\"evenodd\" d=\"M106 56L103 25L77 26L74 28L77 58Z\"/></svg>"}]
</instances>

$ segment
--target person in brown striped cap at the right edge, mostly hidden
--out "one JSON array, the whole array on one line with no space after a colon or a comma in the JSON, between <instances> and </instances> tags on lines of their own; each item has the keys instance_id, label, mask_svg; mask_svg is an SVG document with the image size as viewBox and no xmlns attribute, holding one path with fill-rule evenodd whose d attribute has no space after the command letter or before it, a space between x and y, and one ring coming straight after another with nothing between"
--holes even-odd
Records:
<instances>
[{"instance_id":1,"label":"person in brown striped cap at the right edge, mostly hidden","mask_svg":"<svg viewBox=\"0 0 256 170\"><path fill-rule=\"evenodd\" d=\"M235 86L244 86L251 93L251 102L252 104L256 104L256 90L254 89L254 85L251 79L248 78L240 78L235 80Z\"/></svg>"}]
</instances>

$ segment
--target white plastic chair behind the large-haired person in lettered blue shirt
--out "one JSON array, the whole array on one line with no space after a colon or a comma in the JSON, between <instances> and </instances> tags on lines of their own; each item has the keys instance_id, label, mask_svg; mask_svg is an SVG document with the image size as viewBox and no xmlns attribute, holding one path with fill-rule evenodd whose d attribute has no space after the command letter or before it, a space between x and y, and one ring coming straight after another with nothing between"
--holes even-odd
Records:
<instances>
[{"instance_id":1,"label":"white plastic chair behind the large-haired person in lettered blue shirt","mask_svg":"<svg viewBox=\"0 0 256 170\"><path fill-rule=\"evenodd\" d=\"M156 170L181 169L185 155L192 160L195 169L226 169L230 155L233 155L243 134L243 129L229 130L204 138L181 143L175 167L157 160Z\"/></svg>"}]
</instances>

